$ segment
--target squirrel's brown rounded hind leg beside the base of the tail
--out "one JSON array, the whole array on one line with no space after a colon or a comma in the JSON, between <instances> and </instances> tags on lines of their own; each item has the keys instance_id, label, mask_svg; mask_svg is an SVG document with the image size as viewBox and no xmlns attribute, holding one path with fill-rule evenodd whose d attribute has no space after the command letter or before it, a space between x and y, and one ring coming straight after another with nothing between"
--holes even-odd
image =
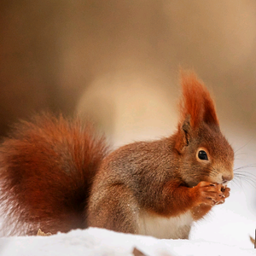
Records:
<instances>
[{"instance_id":1,"label":"squirrel's brown rounded hind leg beside the base of the tail","mask_svg":"<svg viewBox=\"0 0 256 256\"><path fill-rule=\"evenodd\" d=\"M92 193L87 223L89 226L137 234L137 201L124 184Z\"/></svg>"}]
</instances>

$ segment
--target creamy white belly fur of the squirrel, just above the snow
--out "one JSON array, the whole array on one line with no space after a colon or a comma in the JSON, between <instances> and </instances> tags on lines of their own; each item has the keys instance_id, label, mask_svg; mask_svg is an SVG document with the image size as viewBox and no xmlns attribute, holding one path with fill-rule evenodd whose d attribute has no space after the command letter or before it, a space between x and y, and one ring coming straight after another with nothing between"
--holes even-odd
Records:
<instances>
[{"instance_id":1,"label":"creamy white belly fur of the squirrel, just above the snow","mask_svg":"<svg viewBox=\"0 0 256 256\"><path fill-rule=\"evenodd\" d=\"M193 218L190 212L172 218L140 212L138 234L164 239L188 239L192 223Z\"/></svg>"}]
</instances>

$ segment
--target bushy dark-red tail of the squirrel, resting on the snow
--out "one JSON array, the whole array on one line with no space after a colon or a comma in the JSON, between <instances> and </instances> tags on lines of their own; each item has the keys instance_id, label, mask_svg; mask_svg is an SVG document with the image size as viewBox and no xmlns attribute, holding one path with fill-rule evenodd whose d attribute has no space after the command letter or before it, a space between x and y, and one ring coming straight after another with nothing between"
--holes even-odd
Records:
<instances>
[{"instance_id":1,"label":"bushy dark-red tail of the squirrel, resting on the snow","mask_svg":"<svg viewBox=\"0 0 256 256\"><path fill-rule=\"evenodd\" d=\"M92 177L108 152L92 125L50 114L22 121L0 146L5 235L86 228Z\"/></svg>"}]
</instances>

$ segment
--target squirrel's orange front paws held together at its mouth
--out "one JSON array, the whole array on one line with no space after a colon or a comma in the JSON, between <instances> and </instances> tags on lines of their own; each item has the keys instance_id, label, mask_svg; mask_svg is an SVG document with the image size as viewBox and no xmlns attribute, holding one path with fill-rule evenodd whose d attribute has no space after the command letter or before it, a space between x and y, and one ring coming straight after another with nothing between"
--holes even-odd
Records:
<instances>
[{"instance_id":1,"label":"squirrel's orange front paws held together at its mouth","mask_svg":"<svg viewBox=\"0 0 256 256\"><path fill-rule=\"evenodd\" d=\"M193 189L193 194L196 197L196 202L200 204L207 204L214 206L223 204L225 197L230 195L230 189L224 188L218 183L201 182Z\"/></svg>"}]
</instances>

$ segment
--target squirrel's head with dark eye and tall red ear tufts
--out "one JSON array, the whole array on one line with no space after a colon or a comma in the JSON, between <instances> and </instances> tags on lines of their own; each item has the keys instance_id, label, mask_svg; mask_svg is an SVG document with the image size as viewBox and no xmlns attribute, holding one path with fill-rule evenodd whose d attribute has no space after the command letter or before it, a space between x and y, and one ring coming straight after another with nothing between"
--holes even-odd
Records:
<instances>
[{"instance_id":1,"label":"squirrel's head with dark eye and tall red ear tufts","mask_svg":"<svg viewBox=\"0 0 256 256\"><path fill-rule=\"evenodd\" d=\"M183 74L182 88L174 136L182 179L189 187L201 181L226 184L234 177L234 151L219 129L212 97L194 73Z\"/></svg>"}]
</instances>

